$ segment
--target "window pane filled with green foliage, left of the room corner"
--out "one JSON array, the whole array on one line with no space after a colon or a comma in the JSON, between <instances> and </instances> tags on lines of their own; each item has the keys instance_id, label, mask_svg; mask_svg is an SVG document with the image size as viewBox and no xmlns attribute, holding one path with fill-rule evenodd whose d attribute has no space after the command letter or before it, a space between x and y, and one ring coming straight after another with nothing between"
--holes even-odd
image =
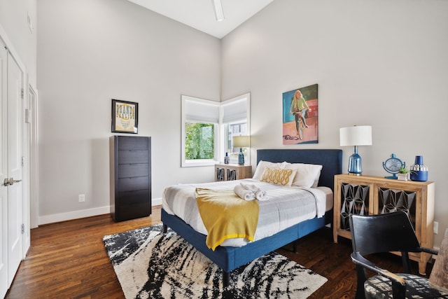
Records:
<instances>
[{"instance_id":1,"label":"window pane filled with green foliage, left of the room corner","mask_svg":"<svg viewBox=\"0 0 448 299\"><path fill-rule=\"evenodd\" d=\"M186 123L186 160L214 159L214 132L212 123Z\"/></svg>"}]
</instances>

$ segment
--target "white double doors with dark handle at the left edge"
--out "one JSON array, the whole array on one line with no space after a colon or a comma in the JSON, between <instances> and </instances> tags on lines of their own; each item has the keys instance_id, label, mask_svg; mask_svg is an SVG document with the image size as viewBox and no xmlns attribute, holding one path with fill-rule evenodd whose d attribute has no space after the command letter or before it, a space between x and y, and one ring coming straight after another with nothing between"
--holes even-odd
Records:
<instances>
[{"instance_id":1,"label":"white double doors with dark handle at the left edge","mask_svg":"<svg viewBox=\"0 0 448 299\"><path fill-rule=\"evenodd\" d=\"M6 290L22 259L22 88L23 73L1 46L1 256L0 277L7 272ZM6 53L3 53L6 52ZM3 70L6 67L6 72ZM6 78L3 78L5 76ZM6 89L6 92L5 90ZM5 121L6 119L6 121ZM6 136L5 136L6 135ZM6 153L5 153L6 152ZM6 158L5 158L6 155ZM5 171L6 169L6 171ZM6 221L5 221L6 219ZM3 251L6 251L3 252ZM4 281L3 278L1 281ZM3 282L0 296L3 293Z\"/></svg>"}]
</instances>

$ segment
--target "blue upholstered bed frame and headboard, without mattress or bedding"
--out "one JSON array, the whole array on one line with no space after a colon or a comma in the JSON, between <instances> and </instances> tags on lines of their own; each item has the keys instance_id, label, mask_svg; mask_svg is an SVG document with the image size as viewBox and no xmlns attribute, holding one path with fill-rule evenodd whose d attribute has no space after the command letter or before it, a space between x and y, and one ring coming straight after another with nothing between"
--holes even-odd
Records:
<instances>
[{"instance_id":1,"label":"blue upholstered bed frame and headboard, without mattress or bedding","mask_svg":"<svg viewBox=\"0 0 448 299\"><path fill-rule=\"evenodd\" d=\"M259 165L260 161L274 163L286 161L290 163L322 165L317 185L330 188L331 190L333 189L335 174L340 174L342 171L342 151L337 149L260 149L257 151L257 165ZM244 246L223 245L217 246L215 250L211 250L207 246L206 235L197 232L197 230L183 221L180 216L173 214L167 206L162 207L161 217L164 232L167 231L168 227L171 228L195 246L198 251L212 260L218 267L221 267L223 270L223 284L224 286L228 286L230 283L230 272L232 270L270 251L295 242L297 239L331 223L332 209L325 211L321 217L314 216L314 218L282 229L269 237L247 242Z\"/></svg>"}]
</instances>

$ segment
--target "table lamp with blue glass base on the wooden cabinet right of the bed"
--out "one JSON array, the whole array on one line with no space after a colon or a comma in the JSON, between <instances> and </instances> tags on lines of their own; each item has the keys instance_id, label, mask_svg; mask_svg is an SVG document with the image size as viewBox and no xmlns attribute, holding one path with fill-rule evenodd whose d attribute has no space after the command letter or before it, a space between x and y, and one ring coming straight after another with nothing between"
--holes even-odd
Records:
<instances>
[{"instance_id":1,"label":"table lamp with blue glass base on the wooden cabinet right of the bed","mask_svg":"<svg viewBox=\"0 0 448 299\"><path fill-rule=\"evenodd\" d=\"M362 169L358 146L372 145L372 127L370 125L341 127L339 129L339 145L353 146L353 155L349 158L349 174L360 176Z\"/></svg>"}]
</instances>

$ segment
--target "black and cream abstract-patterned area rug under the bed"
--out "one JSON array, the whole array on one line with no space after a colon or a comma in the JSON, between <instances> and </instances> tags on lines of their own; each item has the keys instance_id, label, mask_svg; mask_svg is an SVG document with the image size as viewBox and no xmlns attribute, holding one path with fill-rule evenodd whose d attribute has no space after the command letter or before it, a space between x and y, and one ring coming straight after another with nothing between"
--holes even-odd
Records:
<instances>
[{"instance_id":1,"label":"black and cream abstract-patterned area rug under the bed","mask_svg":"<svg viewBox=\"0 0 448 299\"><path fill-rule=\"evenodd\" d=\"M230 273L162 225L103 238L113 269L130 298L307 298L327 279L281 256L268 253Z\"/></svg>"}]
</instances>

